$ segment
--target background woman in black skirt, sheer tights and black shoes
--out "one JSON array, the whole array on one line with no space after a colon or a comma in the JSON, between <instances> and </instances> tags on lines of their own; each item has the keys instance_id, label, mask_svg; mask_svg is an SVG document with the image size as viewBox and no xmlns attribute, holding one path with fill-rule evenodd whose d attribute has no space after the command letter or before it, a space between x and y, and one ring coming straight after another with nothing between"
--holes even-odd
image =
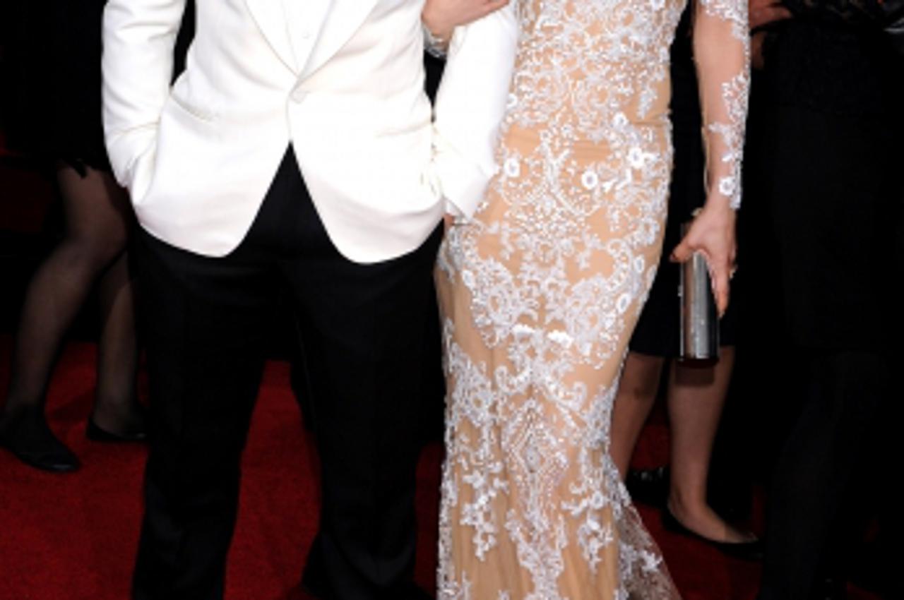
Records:
<instances>
[{"instance_id":1,"label":"background woman in black skirt, sheer tights and black shoes","mask_svg":"<svg viewBox=\"0 0 904 600\"><path fill-rule=\"evenodd\" d=\"M79 466L48 427L43 405L64 336L95 285L101 332L89 436L136 440L145 431L135 389L135 293L126 252L132 209L109 172L100 123L105 4L50 0L14 3L5 10L8 142L18 152L42 157L52 169L65 226L25 296L0 412L0 445L24 463L50 471Z\"/></svg>"}]
</instances>

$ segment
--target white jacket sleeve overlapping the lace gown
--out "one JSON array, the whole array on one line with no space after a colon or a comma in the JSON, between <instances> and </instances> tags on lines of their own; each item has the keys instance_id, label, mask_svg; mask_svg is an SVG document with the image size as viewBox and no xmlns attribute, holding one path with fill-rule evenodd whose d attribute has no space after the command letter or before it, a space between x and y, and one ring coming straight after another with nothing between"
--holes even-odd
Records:
<instances>
[{"instance_id":1,"label":"white jacket sleeve overlapping the lace gown","mask_svg":"<svg viewBox=\"0 0 904 600\"><path fill-rule=\"evenodd\" d=\"M434 112L434 169L446 211L469 218L493 176L495 146L514 68L518 22L512 0L458 27Z\"/></svg>"}]
</instances>

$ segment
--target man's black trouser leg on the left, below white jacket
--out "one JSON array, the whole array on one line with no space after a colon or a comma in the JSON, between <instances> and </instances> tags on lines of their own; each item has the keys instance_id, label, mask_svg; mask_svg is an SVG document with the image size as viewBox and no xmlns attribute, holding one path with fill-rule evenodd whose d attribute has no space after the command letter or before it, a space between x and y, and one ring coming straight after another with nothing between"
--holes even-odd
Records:
<instances>
[{"instance_id":1,"label":"man's black trouser leg on the left, below white jacket","mask_svg":"<svg viewBox=\"0 0 904 600\"><path fill-rule=\"evenodd\" d=\"M217 600L264 362L264 269L141 243L152 435L134 597Z\"/></svg>"}]
</instances>

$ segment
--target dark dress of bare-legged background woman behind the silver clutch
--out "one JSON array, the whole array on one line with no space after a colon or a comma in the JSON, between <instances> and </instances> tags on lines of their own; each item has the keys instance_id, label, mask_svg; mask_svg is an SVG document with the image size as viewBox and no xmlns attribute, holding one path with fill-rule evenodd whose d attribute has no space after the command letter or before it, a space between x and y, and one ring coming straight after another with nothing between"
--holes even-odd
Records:
<instances>
[{"instance_id":1,"label":"dark dress of bare-legged background woman behind the silver clutch","mask_svg":"<svg viewBox=\"0 0 904 600\"><path fill-rule=\"evenodd\" d=\"M663 256L644 310L628 344L631 352L674 357L680 350L681 305L678 299L680 267L669 260L681 242L682 223L706 202L703 183L705 157L702 145L702 114L697 74L692 57L690 10L685 10L672 44L672 183L668 219L665 223ZM738 278L732 281L737 284ZM736 303L732 301L720 322L720 344L735 343Z\"/></svg>"}]
</instances>

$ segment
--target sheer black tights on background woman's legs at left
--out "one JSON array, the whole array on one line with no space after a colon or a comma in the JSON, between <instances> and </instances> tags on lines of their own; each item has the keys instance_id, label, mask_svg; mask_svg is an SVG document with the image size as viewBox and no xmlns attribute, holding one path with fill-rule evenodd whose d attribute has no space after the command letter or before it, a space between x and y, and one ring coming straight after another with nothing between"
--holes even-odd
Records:
<instances>
[{"instance_id":1,"label":"sheer black tights on background woman's legs at left","mask_svg":"<svg viewBox=\"0 0 904 600\"><path fill-rule=\"evenodd\" d=\"M133 426L137 410L134 286L126 244L132 213L127 192L106 172L57 167L66 229L25 295L2 420L43 409L63 338L99 285L101 332L95 423L108 431Z\"/></svg>"}]
</instances>

